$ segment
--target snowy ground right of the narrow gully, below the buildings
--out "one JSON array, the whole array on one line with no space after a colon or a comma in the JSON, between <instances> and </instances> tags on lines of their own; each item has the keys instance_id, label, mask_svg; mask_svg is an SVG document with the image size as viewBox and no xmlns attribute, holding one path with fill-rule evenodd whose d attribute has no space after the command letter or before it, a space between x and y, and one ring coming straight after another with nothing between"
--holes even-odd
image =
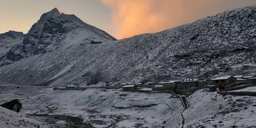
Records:
<instances>
[{"instance_id":1,"label":"snowy ground right of the narrow gully, below the buildings","mask_svg":"<svg viewBox=\"0 0 256 128\"><path fill-rule=\"evenodd\" d=\"M222 96L202 89L188 98L190 107L183 112L185 127L256 128L256 97Z\"/></svg>"}]
</instances>

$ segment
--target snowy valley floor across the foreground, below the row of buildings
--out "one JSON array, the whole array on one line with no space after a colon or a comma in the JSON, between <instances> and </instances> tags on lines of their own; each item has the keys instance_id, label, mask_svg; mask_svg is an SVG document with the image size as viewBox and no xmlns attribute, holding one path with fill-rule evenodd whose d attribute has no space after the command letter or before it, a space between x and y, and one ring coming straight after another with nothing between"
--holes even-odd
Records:
<instances>
[{"instance_id":1,"label":"snowy valley floor across the foreground, below the row of buildings","mask_svg":"<svg viewBox=\"0 0 256 128\"><path fill-rule=\"evenodd\" d=\"M256 128L256 97L223 97L207 89L187 97L190 107L186 110L169 93L53 91L43 86L0 84L0 104L13 99L21 100L23 117L52 128ZM5 121L0 120L0 127Z\"/></svg>"}]
</instances>

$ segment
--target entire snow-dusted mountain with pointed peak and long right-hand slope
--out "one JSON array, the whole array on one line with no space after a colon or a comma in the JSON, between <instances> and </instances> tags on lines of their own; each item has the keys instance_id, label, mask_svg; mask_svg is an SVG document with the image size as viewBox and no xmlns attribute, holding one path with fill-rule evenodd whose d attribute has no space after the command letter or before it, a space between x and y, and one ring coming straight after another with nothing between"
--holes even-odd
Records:
<instances>
[{"instance_id":1,"label":"entire snow-dusted mountain with pointed peak and long right-hand slope","mask_svg":"<svg viewBox=\"0 0 256 128\"><path fill-rule=\"evenodd\" d=\"M53 9L0 58L0 81L64 86L256 72L256 5L116 40Z\"/></svg>"}]
</instances>

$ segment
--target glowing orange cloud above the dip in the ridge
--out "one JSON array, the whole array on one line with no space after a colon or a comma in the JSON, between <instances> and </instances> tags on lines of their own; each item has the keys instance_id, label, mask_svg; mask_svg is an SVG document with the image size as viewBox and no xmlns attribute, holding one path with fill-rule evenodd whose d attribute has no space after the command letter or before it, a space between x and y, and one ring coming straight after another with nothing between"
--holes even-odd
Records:
<instances>
[{"instance_id":1,"label":"glowing orange cloud above the dip in the ridge","mask_svg":"<svg viewBox=\"0 0 256 128\"><path fill-rule=\"evenodd\" d=\"M215 15L232 0L101 0L112 12L114 37L153 33ZM226 5L227 6L223 6ZM222 9L222 10L221 10ZM112 28L113 29L113 28Z\"/></svg>"}]
</instances>

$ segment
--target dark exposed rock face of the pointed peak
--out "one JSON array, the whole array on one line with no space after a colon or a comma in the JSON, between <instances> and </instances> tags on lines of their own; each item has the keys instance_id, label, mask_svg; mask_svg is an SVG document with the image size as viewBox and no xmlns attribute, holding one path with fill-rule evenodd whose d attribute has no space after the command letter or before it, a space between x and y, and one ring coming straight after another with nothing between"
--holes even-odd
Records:
<instances>
[{"instance_id":1,"label":"dark exposed rock face of the pointed peak","mask_svg":"<svg viewBox=\"0 0 256 128\"><path fill-rule=\"evenodd\" d=\"M71 32L79 27L86 29L96 29L74 15L60 14L58 9L44 13L41 18L29 30L22 44L13 47L7 53L7 59L18 61L24 57L31 55L44 54L49 49L47 47L56 41L60 41L64 34ZM106 36L110 40L115 40L108 34Z\"/></svg>"}]
</instances>

